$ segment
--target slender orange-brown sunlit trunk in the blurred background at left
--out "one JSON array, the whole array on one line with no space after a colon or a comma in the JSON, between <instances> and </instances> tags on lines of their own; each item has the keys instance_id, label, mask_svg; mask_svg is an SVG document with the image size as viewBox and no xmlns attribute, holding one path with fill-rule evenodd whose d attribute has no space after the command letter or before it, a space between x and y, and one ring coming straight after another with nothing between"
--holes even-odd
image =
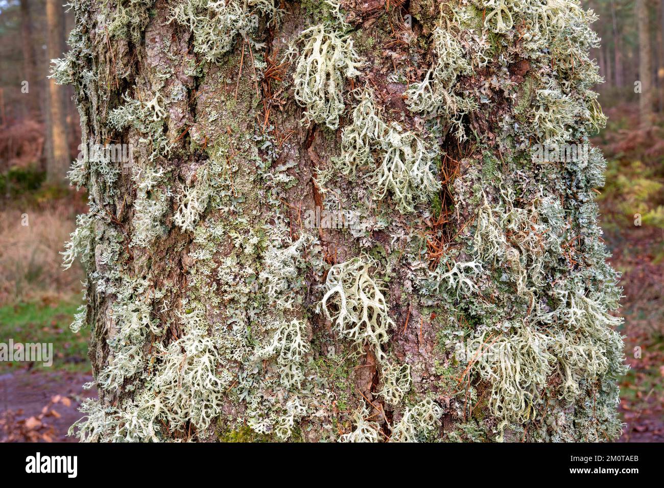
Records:
<instances>
[{"instance_id":1,"label":"slender orange-brown sunlit trunk in the blurred background at left","mask_svg":"<svg viewBox=\"0 0 664 488\"><path fill-rule=\"evenodd\" d=\"M64 52L64 10L60 0L46 0L48 28L48 58L58 58ZM71 163L69 131L66 120L65 90L55 80L48 80L48 157L46 179L56 185L66 184L66 173Z\"/></svg>"}]
</instances>

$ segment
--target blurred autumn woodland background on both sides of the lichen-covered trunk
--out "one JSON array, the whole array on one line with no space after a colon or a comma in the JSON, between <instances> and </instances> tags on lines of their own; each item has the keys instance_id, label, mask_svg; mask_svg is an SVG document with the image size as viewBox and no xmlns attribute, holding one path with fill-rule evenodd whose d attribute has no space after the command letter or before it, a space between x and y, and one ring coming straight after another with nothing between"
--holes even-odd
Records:
<instances>
[{"instance_id":1,"label":"blurred autumn woodland background on both sides of the lichen-covered trunk","mask_svg":"<svg viewBox=\"0 0 664 488\"><path fill-rule=\"evenodd\" d=\"M0 441L70 440L76 406L94 395L80 387L91 379L87 335L68 328L84 274L60 268L87 199L64 182L81 143L72 88L46 78L73 24L62 1L0 0L0 342L53 343L55 356L50 368L0 363ZM609 122L593 143L608 160L602 227L625 295L621 333L631 370L621 383L621 440L661 442L664 0L582 3L600 16L594 29L602 37L592 54Z\"/></svg>"}]
</instances>

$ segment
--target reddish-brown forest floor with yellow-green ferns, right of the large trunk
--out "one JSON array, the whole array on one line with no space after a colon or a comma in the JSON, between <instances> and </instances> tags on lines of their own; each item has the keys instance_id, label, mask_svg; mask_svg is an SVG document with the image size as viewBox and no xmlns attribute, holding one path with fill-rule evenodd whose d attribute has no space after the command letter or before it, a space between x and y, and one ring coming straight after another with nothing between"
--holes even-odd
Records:
<instances>
[{"instance_id":1,"label":"reddish-brown forest floor with yellow-green ferns, right of the large trunk","mask_svg":"<svg viewBox=\"0 0 664 488\"><path fill-rule=\"evenodd\" d=\"M664 119L639 129L634 104L606 115L592 143L608 163L600 223L610 262L622 273L620 332L630 368L620 382L620 440L664 442Z\"/></svg>"}]
</instances>

